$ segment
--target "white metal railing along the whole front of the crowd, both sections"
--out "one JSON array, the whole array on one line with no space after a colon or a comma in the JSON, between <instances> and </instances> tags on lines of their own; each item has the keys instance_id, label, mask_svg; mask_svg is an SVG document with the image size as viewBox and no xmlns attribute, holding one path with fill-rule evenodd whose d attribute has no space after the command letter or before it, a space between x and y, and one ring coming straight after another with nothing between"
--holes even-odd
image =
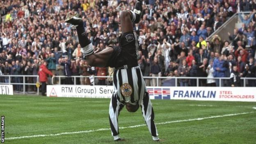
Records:
<instances>
[{"instance_id":1,"label":"white metal railing along the whole front of the crowd, both sections","mask_svg":"<svg viewBox=\"0 0 256 144\"><path fill-rule=\"evenodd\" d=\"M33 81L29 82L29 78L32 78ZM49 78L49 85L60 85L61 84L61 79L62 78L67 78L67 76L53 76L51 79ZM111 77L109 76L71 76L70 77L73 80L73 84L78 85L77 80L80 80L80 78L89 78L91 79L91 85L96 85L96 79L98 78L106 78L107 80ZM156 86L161 86L160 80L165 81L165 80L172 80L173 81L173 87L178 87L179 80L181 79L195 79L197 81L197 87L200 87L199 81L200 80L206 80L206 79L215 79L219 80L219 87L222 87L222 83L224 80L228 81L229 78L206 78L206 77L144 77L145 79L153 80L155 79L156 81ZM19 80L18 80L19 79ZM107 81L106 80L106 81ZM256 78L241 78L242 80L242 85L243 87L248 86L248 80L255 80ZM17 82L18 81L18 82ZM39 87L36 87L36 82L39 81L39 76L38 75L0 75L0 86L3 85L13 85L13 90L8 86L9 91L15 93L15 94L37 94L39 95ZM58 83L55 83L58 82ZM112 84L111 84L112 85ZM19 86L21 87L22 91L16 91L16 87ZM5 87L5 86L3 86ZM2 94L7 94L4 91L4 88L0 87L0 92L2 91ZM31 87L33 89L31 89ZM112 86L108 86L111 87ZM1 93L0 93L1 94ZM9 93L11 94L11 93Z\"/></svg>"}]
</instances>

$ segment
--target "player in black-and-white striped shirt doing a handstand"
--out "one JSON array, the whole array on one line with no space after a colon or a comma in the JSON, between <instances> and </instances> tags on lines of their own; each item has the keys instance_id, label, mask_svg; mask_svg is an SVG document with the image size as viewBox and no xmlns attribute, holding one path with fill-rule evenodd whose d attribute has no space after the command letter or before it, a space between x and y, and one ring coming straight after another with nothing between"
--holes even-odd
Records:
<instances>
[{"instance_id":1,"label":"player in black-and-white striped shirt doing a handstand","mask_svg":"<svg viewBox=\"0 0 256 144\"><path fill-rule=\"evenodd\" d=\"M146 125L153 140L158 141L158 131L154 122L154 111L146 89L146 84L139 69L138 41L133 24L139 23L142 15L142 4L137 1L133 11L121 12L121 31L119 46L109 46L99 53L94 53L91 41L86 36L82 18L67 16L66 23L76 25L79 43L90 66L114 67L114 92L110 101L109 120L114 140L119 137L118 116L124 105L129 112L136 112L139 105Z\"/></svg>"}]
</instances>

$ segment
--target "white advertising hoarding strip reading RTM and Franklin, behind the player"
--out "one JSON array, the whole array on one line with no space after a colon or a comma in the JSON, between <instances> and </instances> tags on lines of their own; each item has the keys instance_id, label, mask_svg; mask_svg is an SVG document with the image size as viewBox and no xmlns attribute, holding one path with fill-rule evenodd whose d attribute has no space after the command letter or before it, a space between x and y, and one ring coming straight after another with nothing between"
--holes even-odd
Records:
<instances>
[{"instance_id":1,"label":"white advertising hoarding strip reading RTM and Franklin, behind the player","mask_svg":"<svg viewBox=\"0 0 256 144\"><path fill-rule=\"evenodd\" d=\"M151 99L256 102L251 87L147 87ZM112 86L47 85L47 96L111 98Z\"/></svg>"}]
</instances>

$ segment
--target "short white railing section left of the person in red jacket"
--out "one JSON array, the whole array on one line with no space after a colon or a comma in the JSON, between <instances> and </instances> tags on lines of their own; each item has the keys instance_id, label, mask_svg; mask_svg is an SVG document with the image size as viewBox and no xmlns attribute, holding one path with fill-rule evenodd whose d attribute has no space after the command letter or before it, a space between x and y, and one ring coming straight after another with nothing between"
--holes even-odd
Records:
<instances>
[{"instance_id":1,"label":"short white railing section left of the person in red jacket","mask_svg":"<svg viewBox=\"0 0 256 144\"><path fill-rule=\"evenodd\" d=\"M32 82L33 83L28 83L27 81L28 78L33 78ZM15 91L16 87L20 87L23 89L23 94L26 94L25 91L28 89L26 86L35 86L36 87L36 82L39 81L39 76L38 75L0 75L0 84L2 85L14 85L14 92L19 92ZM39 88L36 88L37 91L27 91L32 93L37 93L39 95Z\"/></svg>"}]
</instances>

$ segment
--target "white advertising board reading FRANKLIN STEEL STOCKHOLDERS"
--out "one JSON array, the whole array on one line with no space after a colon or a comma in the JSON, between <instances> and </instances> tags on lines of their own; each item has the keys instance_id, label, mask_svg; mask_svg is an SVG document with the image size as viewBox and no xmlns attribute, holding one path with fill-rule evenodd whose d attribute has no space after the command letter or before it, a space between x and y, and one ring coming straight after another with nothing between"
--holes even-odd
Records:
<instances>
[{"instance_id":1,"label":"white advertising board reading FRANKLIN STEEL STOCKHOLDERS","mask_svg":"<svg viewBox=\"0 0 256 144\"><path fill-rule=\"evenodd\" d=\"M151 99L256 102L253 87L147 87Z\"/></svg>"}]
</instances>

